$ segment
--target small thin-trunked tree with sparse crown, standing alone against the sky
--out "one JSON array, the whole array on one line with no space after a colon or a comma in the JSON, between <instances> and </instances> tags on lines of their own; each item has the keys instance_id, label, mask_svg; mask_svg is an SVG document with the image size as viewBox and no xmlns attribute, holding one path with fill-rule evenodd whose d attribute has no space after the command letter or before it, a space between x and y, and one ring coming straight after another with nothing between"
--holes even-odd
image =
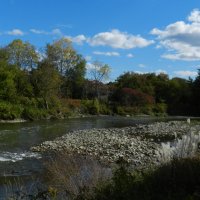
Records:
<instances>
[{"instance_id":1,"label":"small thin-trunked tree with sparse crown, standing alone against the sky","mask_svg":"<svg viewBox=\"0 0 200 200\"><path fill-rule=\"evenodd\" d=\"M111 68L107 64L95 61L92 63L92 69L90 70L91 78L94 81L95 85L95 96L100 97L100 85L102 82L109 79Z\"/></svg>"}]
</instances>

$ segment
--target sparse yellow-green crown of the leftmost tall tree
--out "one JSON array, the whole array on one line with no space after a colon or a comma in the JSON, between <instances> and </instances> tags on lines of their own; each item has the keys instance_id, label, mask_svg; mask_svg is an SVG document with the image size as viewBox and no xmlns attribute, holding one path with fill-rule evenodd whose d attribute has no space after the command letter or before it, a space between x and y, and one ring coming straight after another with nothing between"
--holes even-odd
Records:
<instances>
[{"instance_id":1,"label":"sparse yellow-green crown of the leftmost tall tree","mask_svg":"<svg viewBox=\"0 0 200 200\"><path fill-rule=\"evenodd\" d=\"M6 47L6 49L10 64L17 65L25 70L32 70L36 67L39 55L36 52L35 47L29 42L14 40Z\"/></svg>"}]
</instances>

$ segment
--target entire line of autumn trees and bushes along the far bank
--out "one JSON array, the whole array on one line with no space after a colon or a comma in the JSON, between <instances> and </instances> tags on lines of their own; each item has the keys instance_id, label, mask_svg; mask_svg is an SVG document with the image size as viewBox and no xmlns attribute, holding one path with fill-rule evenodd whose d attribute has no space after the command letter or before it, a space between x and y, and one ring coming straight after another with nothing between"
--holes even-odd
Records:
<instances>
[{"instance_id":1,"label":"entire line of autumn trees and bushes along the far bank","mask_svg":"<svg viewBox=\"0 0 200 200\"><path fill-rule=\"evenodd\" d=\"M0 48L0 118L41 119L89 114L200 114L200 71L192 80L126 72L114 82L110 66L86 60L69 39L47 44L14 40Z\"/></svg>"}]
</instances>

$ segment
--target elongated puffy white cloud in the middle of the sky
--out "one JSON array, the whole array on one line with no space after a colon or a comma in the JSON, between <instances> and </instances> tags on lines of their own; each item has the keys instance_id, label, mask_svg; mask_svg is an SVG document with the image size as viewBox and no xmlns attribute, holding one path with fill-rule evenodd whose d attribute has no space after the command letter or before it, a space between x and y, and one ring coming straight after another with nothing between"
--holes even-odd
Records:
<instances>
[{"instance_id":1,"label":"elongated puffy white cloud in the middle of the sky","mask_svg":"<svg viewBox=\"0 0 200 200\"><path fill-rule=\"evenodd\" d=\"M110 46L116 49L132 49L146 47L154 41L146 40L140 35L132 35L113 29L111 32L102 32L88 39L91 46Z\"/></svg>"}]
</instances>

